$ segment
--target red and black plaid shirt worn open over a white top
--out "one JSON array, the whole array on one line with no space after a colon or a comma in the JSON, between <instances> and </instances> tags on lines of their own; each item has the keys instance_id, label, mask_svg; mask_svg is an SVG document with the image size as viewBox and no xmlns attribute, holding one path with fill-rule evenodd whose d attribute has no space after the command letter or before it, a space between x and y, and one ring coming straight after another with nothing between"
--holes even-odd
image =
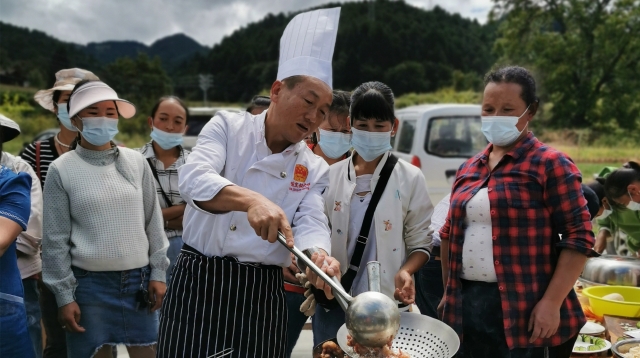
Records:
<instances>
[{"instance_id":1,"label":"red and black plaid shirt worn open over a white top","mask_svg":"<svg viewBox=\"0 0 640 358\"><path fill-rule=\"evenodd\" d=\"M487 187L507 344L511 349L560 345L585 324L573 290L560 309L556 335L530 344L527 326L531 311L551 281L559 251L568 248L590 255L595 243L580 171L571 159L532 133L507 153L493 172L488 166L490 150L491 144L458 170L449 215L440 230L441 238L449 240L450 250L444 322L462 338L459 276L465 210L478 190Z\"/></svg>"}]
</instances>

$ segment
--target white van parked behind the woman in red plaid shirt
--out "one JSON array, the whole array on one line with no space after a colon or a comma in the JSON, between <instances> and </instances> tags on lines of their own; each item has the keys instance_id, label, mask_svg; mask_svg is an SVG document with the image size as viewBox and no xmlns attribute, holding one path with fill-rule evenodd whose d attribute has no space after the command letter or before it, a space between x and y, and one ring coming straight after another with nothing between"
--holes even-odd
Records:
<instances>
[{"instance_id":1,"label":"white van parked behind the woman in red plaid shirt","mask_svg":"<svg viewBox=\"0 0 640 358\"><path fill-rule=\"evenodd\" d=\"M451 191L456 172L482 151L481 107L472 104L426 104L396 111L400 126L393 153L422 169L436 205Z\"/></svg>"}]
</instances>

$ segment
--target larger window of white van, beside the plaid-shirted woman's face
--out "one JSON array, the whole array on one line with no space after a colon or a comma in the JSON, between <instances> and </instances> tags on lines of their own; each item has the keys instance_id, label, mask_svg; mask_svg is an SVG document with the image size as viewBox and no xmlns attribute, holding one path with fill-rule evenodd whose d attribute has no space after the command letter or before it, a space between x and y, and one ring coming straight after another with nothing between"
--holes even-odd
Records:
<instances>
[{"instance_id":1,"label":"larger window of white van, beside the plaid-shirted woman's face","mask_svg":"<svg viewBox=\"0 0 640 358\"><path fill-rule=\"evenodd\" d=\"M439 157L471 158L487 144L480 116L440 117L429 121L424 149Z\"/></svg>"}]
</instances>

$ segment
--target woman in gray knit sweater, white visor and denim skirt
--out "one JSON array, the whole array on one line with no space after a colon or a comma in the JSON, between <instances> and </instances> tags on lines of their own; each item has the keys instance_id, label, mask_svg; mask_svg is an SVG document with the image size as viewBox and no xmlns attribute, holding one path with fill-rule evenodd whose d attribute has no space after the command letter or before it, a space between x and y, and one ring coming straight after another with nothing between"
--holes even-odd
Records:
<instances>
[{"instance_id":1,"label":"woman in gray knit sweater, white visor and denim skirt","mask_svg":"<svg viewBox=\"0 0 640 358\"><path fill-rule=\"evenodd\" d=\"M43 278L67 331L68 357L154 357L168 241L153 174L112 142L135 107L99 81L67 104L79 145L49 167L44 187Z\"/></svg>"}]
</instances>

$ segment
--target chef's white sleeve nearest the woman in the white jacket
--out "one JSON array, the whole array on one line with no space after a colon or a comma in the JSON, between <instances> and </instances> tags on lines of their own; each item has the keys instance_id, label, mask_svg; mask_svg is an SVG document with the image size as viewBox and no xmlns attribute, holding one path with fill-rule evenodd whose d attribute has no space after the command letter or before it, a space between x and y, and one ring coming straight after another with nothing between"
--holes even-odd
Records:
<instances>
[{"instance_id":1,"label":"chef's white sleeve nearest the woman in the white jacket","mask_svg":"<svg viewBox=\"0 0 640 358\"><path fill-rule=\"evenodd\" d=\"M329 185L329 166L323 166L320 179L304 196L293 216L293 238L300 250L318 247L331 255L331 232L324 214L322 194Z\"/></svg>"}]
</instances>

